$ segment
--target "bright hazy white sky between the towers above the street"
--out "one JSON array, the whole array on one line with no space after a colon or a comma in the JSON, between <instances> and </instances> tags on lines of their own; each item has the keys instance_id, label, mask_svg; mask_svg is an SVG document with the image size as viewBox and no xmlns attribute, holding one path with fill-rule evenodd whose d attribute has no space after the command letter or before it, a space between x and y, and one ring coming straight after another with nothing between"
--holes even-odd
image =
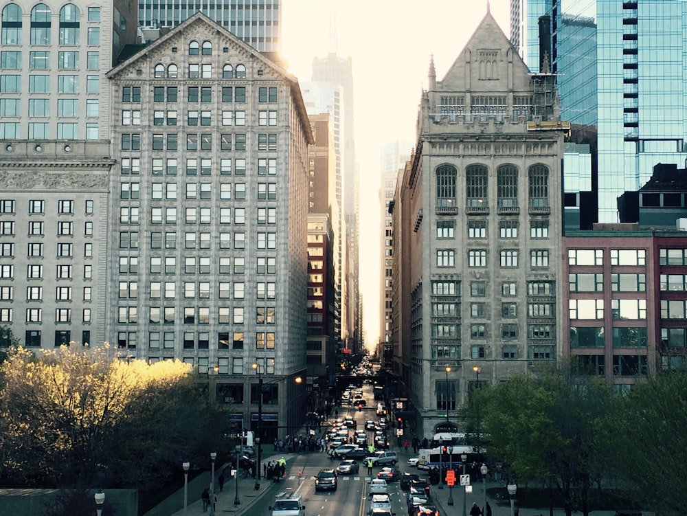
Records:
<instances>
[{"instance_id":1,"label":"bright hazy white sky between the towers above the street","mask_svg":"<svg viewBox=\"0 0 687 516\"><path fill-rule=\"evenodd\" d=\"M510 0L491 0L508 36ZM361 264L365 341L379 340L381 228L380 149L416 141L429 58L441 80L486 14L487 0L284 0L282 55L300 82L313 58L334 51L352 58L354 134L360 177ZM335 35L333 35L335 33Z\"/></svg>"}]
</instances>

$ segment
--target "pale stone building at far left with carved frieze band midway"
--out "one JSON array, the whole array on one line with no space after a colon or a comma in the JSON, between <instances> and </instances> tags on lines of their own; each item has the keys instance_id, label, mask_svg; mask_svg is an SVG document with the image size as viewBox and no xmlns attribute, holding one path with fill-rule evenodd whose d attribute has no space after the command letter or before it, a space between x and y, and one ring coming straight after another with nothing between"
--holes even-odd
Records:
<instances>
[{"instance_id":1,"label":"pale stone building at far left with carved frieze band midway","mask_svg":"<svg viewBox=\"0 0 687 516\"><path fill-rule=\"evenodd\" d=\"M10 2L0 18L0 324L32 349L102 344L111 220L105 78L131 0Z\"/></svg>"}]
</instances>

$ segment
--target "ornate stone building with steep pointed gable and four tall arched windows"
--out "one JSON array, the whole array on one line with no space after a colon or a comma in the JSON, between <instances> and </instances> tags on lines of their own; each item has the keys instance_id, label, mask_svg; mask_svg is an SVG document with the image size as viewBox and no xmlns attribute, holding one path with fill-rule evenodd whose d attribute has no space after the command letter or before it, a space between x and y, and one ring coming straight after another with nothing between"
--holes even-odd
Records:
<instances>
[{"instance_id":1,"label":"ornate stone building with steep pointed gable and four tall arched windows","mask_svg":"<svg viewBox=\"0 0 687 516\"><path fill-rule=\"evenodd\" d=\"M479 383L560 355L562 126L552 76L530 74L491 13L442 80L431 63L394 227L418 434L454 427Z\"/></svg>"}]
</instances>

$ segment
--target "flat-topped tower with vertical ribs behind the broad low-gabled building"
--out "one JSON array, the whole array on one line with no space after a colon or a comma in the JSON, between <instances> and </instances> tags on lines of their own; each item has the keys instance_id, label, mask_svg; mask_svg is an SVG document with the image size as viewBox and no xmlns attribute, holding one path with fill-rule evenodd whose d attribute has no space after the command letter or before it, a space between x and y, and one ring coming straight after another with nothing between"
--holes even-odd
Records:
<instances>
[{"instance_id":1,"label":"flat-topped tower with vertical ribs behind the broad low-gabled building","mask_svg":"<svg viewBox=\"0 0 687 516\"><path fill-rule=\"evenodd\" d=\"M202 12L260 52L280 52L282 0L139 0L141 27L176 27Z\"/></svg>"}]
</instances>

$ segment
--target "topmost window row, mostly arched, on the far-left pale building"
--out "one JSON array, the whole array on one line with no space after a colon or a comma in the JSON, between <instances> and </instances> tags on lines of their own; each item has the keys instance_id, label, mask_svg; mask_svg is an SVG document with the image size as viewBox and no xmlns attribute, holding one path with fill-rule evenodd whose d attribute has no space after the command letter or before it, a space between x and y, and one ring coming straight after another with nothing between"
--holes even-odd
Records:
<instances>
[{"instance_id":1,"label":"topmost window row, mostly arched, on the far-left pale building","mask_svg":"<svg viewBox=\"0 0 687 516\"><path fill-rule=\"evenodd\" d=\"M73 3L67 3L60 8L59 44L78 45L81 13ZM2 45L22 44L23 12L16 3L8 3L2 10L2 24L0 26L0 43ZM100 7L89 7L89 22L100 21ZM87 28L89 45L100 45L100 27ZM45 3L34 5L30 18L31 45L49 45L52 32L52 13Z\"/></svg>"}]
</instances>

